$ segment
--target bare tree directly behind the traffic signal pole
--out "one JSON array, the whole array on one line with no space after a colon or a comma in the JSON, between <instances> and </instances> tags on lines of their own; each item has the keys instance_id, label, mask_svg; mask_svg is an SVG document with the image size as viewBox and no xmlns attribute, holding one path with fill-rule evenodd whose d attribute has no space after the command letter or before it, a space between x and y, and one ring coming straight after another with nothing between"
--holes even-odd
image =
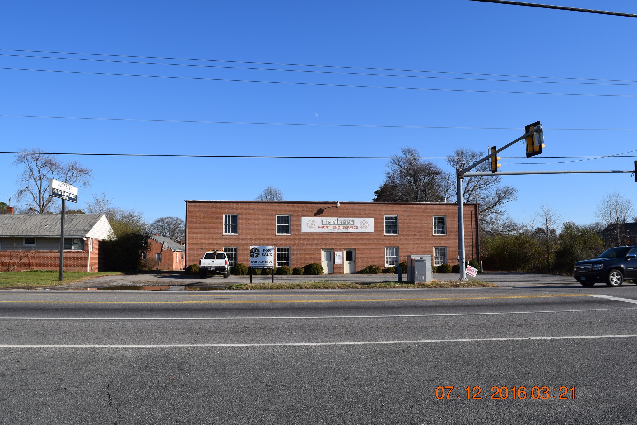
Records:
<instances>
[{"instance_id":1,"label":"bare tree directly behind the traffic signal pole","mask_svg":"<svg viewBox=\"0 0 637 425\"><path fill-rule=\"evenodd\" d=\"M464 169L484 155L473 149L457 148L445 160L456 171ZM482 162L471 171L490 171L489 161ZM457 202L455 175L449 185L453 185L452 199ZM517 189L511 185L501 185L499 176L465 177L462 181L462 201L480 204L480 229L486 234L502 234L515 231L518 225L508 217L506 204L517 199Z\"/></svg>"}]
</instances>

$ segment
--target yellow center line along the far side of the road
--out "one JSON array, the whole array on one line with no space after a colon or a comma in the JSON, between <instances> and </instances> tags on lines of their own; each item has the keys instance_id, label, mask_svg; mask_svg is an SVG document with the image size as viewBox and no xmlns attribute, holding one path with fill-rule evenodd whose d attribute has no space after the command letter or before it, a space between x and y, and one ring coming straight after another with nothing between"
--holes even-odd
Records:
<instances>
[{"instance_id":1,"label":"yellow center line along the far side of the road","mask_svg":"<svg viewBox=\"0 0 637 425\"><path fill-rule=\"evenodd\" d=\"M353 303L369 301L438 301L454 299L505 299L505 298L559 298L589 296L590 294L514 295L450 298L384 298L384 299L276 299L276 300L202 300L202 301L0 301L0 303L49 303L49 304L248 304L248 303Z\"/></svg>"}]
</instances>

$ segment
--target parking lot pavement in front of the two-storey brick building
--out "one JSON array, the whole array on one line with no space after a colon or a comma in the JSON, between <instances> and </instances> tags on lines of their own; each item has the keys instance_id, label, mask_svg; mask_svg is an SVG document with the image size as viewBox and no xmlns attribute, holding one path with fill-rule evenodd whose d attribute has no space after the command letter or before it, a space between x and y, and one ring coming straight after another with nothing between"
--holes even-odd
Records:
<instances>
[{"instance_id":1,"label":"parking lot pavement in front of the two-storey brick building","mask_svg":"<svg viewBox=\"0 0 637 425\"><path fill-rule=\"evenodd\" d=\"M459 275L454 273L448 274L434 274L434 279L439 281L452 281L457 280ZM568 285L573 287L579 287L573 277L570 276L558 276L558 275L540 275L536 273L515 273L515 272L503 272L503 271L487 271L485 273L478 274L478 279L486 282L491 282L503 287L527 287L527 286L560 286ZM275 282L278 283L292 283L292 282L313 282L313 281L330 281L330 282L359 282L359 283L375 283L383 282L386 280L396 282L396 274L379 274L379 275L289 275L280 276L275 275ZM406 280L406 275L403 275L403 281ZM255 283L267 283L271 282L271 276L259 275L253 276L252 281ZM85 289L95 287L112 287L112 286L127 286L127 285L231 285L231 284L246 284L250 282L249 276L230 276L224 279L222 276L209 276L205 279L201 279L197 276L186 276L176 273L141 273L136 275L115 275L104 276L87 280L83 282L75 282L72 284L64 284L52 287L52 289ZM627 282L628 284L628 282ZM603 286L604 284L597 284Z\"/></svg>"}]
</instances>

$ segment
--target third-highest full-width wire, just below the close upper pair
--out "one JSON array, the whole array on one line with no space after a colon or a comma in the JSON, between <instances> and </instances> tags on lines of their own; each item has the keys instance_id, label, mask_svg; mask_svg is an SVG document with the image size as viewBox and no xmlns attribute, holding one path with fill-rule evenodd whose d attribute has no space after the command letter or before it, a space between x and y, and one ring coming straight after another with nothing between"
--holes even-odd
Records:
<instances>
[{"instance_id":1,"label":"third-highest full-width wire, just below the close upper pair","mask_svg":"<svg viewBox=\"0 0 637 425\"><path fill-rule=\"evenodd\" d=\"M195 76L119 74L119 73L103 73L103 72L87 72L87 71L59 71L57 69L31 69L31 68L0 68L0 69L10 69L12 71L37 71L37 72L64 73L64 74L140 76L140 77L147 77L147 78L175 78L178 80L206 80L206 81L242 82L242 83L316 85L316 86L322 86L322 87L359 87L362 89L426 90L426 91L436 91L436 92L471 92L471 93L505 93L505 94L548 94L548 95L555 95L555 96L637 97L637 94L594 94L594 93L517 92L517 91L504 91L504 90L431 89L431 88L425 88L425 87L397 87L397 86L386 86L386 85L301 83L301 82L291 82L291 81L204 78L204 77L195 77Z\"/></svg>"}]
</instances>

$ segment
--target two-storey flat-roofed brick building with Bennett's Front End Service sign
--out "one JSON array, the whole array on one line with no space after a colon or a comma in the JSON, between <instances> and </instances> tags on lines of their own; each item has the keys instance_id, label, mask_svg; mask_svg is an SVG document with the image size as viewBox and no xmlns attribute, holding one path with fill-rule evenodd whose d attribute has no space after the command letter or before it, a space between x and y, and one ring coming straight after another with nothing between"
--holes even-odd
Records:
<instances>
[{"instance_id":1,"label":"two-storey flat-roofed brick building with Bennett's Front End Service sign","mask_svg":"<svg viewBox=\"0 0 637 425\"><path fill-rule=\"evenodd\" d=\"M276 265L321 263L326 273L371 264L397 266L409 254L457 264L457 205L452 203L185 201L186 265L224 248L250 264L250 245L274 245ZM338 209L337 209L338 208ZM479 260L478 205L464 205L466 259Z\"/></svg>"}]
</instances>

